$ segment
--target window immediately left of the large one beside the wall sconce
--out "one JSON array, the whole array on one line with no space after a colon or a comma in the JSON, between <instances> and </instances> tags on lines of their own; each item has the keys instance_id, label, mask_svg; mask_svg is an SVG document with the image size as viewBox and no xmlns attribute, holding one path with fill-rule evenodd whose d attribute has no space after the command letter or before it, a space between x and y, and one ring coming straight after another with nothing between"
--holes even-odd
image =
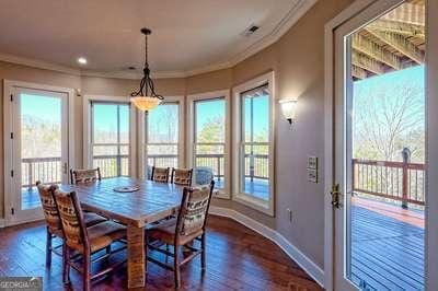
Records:
<instances>
[{"instance_id":1,"label":"window immediately left of the large one beside the wall sconce","mask_svg":"<svg viewBox=\"0 0 438 291\"><path fill-rule=\"evenodd\" d=\"M188 164L195 184L212 173L217 197L229 198L229 91L191 95L188 100Z\"/></svg>"}]
</instances>

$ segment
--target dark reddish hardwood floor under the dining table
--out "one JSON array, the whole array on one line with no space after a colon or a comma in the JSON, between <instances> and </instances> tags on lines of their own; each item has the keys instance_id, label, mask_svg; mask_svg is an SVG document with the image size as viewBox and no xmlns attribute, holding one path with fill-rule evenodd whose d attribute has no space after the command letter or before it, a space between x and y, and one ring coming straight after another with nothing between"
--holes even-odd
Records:
<instances>
[{"instance_id":1,"label":"dark reddish hardwood floor under the dining table","mask_svg":"<svg viewBox=\"0 0 438 291\"><path fill-rule=\"evenodd\" d=\"M61 290L61 258L54 256L51 269L45 269L45 237L43 222L1 230L0 276L41 276L45 290ZM230 219L210 216L204 275L199 259L182 268L182 290L322 290L278 246ZM81 290L73 270L71 280ZM125 289L126 268L92 287ZM173 272L148 264L147 289L173 290Z\"/></svg>"}]
</instances>

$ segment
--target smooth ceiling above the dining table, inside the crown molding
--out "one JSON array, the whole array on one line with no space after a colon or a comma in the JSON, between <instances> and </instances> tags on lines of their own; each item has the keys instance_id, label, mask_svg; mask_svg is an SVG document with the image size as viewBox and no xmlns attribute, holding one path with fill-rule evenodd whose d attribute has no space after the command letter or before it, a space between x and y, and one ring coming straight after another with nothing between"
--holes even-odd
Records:
<instances>
[{"instance_id":1,"label":"smooth ceiling above the dining table, inside the crown molding","mask_svg":"<svg viewBox=\"0 0 438 291\"><path fill-rule=\"evenodd\" d=\"M140 27L152 30L153 72L229 67L291 25L314 0L2 0L0 54L73 69L118 73L142 67ZM252 36L242 32L261 26ZM78 57L89 60L77 63Z\"/></svg>"}]
</instances>

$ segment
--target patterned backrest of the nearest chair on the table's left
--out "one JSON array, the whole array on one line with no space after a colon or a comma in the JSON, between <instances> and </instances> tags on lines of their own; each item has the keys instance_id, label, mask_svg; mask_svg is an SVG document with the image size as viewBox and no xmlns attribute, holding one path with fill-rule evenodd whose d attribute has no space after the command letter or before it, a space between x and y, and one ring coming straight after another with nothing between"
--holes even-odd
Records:
<instances>
[{"instance_id":1,"label":"patterned backrest of the nearest chair on the table's left","mask_svg":"<svg viewBox=\"0 0 438 291\"><path fill-rule=\"evenodd\" d=\"M66 244L76 249L89 247L87 226L77 194L55 189L53 195L61 219Z\"/></svg>"}]
</instances>

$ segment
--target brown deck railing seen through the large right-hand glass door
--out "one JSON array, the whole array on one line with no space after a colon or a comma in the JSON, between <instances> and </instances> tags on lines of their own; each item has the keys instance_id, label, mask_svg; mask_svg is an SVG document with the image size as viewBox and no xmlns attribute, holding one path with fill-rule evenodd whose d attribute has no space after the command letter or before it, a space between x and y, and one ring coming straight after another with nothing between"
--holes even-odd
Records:
<instances>
[{"instance_id":1,"label":"brown deck railing seen through the large right-hand glass door","mask_svg":"<svg viewBox=\"0 0 438 291\"><path fill-rule=\"evenodd\" d=\"M353 160L353 191L407 203L425 203L425 165L418 163Z\"/></svg>"}]
</instances>

